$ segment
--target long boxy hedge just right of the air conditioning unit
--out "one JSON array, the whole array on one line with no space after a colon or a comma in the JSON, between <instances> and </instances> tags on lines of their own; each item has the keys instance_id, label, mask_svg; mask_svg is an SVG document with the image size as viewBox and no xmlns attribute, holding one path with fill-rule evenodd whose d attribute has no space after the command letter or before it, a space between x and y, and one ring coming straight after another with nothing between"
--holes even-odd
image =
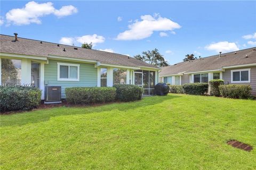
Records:
<instances>
[{"instance_id":1,"label":"long boxy hedge just right of the air conditioning unit","mask_svg":"<svg viewBox=\"0 0 256 170\"><path fill-rule=\"evenodd\" d=\"M65 89L66 100L71 104L94 104L114 101L113 87L70 87Z\"/></svg>"}]
</instances>

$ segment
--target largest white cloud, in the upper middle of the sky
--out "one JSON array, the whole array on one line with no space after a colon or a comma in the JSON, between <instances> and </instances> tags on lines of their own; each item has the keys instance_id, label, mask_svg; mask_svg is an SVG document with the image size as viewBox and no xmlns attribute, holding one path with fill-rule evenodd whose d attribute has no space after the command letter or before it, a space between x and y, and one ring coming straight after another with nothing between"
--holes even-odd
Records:
<instances>
[{"instance_id":1,"label":"largest white cloud, in the upper middle of the sky","mask_svg":"<svg viewBox=\"0 0 256 170\"><path fill-rule=\"evenodd\" d=\"M139 40L150 37L154 31L172 31L181 26L168 18L162 18L159 14L141 15L141 21L135 20L128 25L129 30L119 33L116 40Z\"/></svg>"}]
</instances>

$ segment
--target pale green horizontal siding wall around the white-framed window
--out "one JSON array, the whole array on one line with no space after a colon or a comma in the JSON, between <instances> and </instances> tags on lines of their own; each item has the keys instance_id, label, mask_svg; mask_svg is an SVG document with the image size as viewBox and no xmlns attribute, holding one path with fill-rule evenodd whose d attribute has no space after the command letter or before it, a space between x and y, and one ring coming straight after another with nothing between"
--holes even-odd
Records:
<instances>
[{"instance_id":1,"label":"pale green horizontal siding wall around the white-framed window","mask_svg":"<svg viewBox=\"0 0 256 170\"><path fill-rule=\"evenodd\" d=\"M58 62L80 64L79 81L58 81ZM65 88L67 87L96 87L97 68L94 67L94 64L49 60L49 64L44 66L44 78L45 86L61 86L61 98L65 98Z\"/></svg>"}]
</instances>

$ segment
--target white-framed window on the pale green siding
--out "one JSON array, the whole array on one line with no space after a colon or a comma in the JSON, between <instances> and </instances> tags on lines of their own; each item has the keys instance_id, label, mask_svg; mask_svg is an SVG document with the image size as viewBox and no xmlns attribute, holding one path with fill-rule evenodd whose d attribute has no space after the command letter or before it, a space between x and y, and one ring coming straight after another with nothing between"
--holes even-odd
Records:
<instances>
[{"instance_id":1,"label":"white-framed window on the pale green siding","mask_svg":"<svg viewBox=\"0 0 256 170\"><path fill-rule=\"evenodd\" d=\"M79 81L79 64L57 63L58 81Z\"/></svg>"}]
</instances>

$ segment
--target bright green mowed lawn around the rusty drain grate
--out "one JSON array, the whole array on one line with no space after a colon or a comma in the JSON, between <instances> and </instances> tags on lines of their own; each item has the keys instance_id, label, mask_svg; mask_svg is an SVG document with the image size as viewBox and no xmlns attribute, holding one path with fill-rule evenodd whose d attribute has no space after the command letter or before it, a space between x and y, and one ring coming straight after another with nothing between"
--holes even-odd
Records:
<instances>
[{"instance_id":1,"label":"bright green mowed lawn around the rusty drain grate","mask_svg":"<svg viewBox=\"0 0 256 170\"><path fill-rule=\"evenodd\" d=\"M2 115L1 168L256 169L255 111L255 100L169 94Z\"/></svg>"}]
</instances>

